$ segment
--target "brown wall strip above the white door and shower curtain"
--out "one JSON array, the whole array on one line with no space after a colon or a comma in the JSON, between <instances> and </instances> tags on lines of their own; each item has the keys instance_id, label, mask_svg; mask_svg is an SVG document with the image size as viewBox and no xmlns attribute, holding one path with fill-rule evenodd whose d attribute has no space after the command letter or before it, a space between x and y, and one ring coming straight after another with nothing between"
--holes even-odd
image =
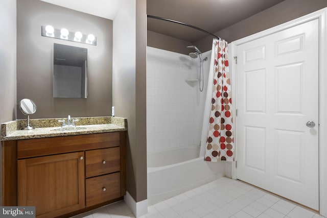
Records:
<instances>
[{"instance_id":1,"label":"brown wall strip above the white door and shower curtain","mask_svg":"<svg viewBox=\"0 0 327 218\"><path fill-rule=\"evenodd\" d=\"M265 11L227 27L215 35L228 42L275 27L300 16L327 7L325 0L285 0ZM201 51L211 50L212 37L201 39L195 44Z\"/></svg>"}]
</instances>

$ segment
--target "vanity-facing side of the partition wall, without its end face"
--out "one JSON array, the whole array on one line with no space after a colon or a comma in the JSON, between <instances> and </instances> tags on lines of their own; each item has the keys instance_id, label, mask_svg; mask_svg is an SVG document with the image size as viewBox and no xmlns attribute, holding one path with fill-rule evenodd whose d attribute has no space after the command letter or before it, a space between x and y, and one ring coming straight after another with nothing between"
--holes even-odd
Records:
<instances>
[{"instance_id":1,"label":"vanity-facing side of the partition wall, without its end face","mask_svg":"<svg viewBox=\"0 0 327 218\"><path fill-rule=\"evenodd\" d=\"M127 191L136 201L135 0L127 0L113 20L112 64L112 105L128 122Z\"/></svg>"}]
</instances>

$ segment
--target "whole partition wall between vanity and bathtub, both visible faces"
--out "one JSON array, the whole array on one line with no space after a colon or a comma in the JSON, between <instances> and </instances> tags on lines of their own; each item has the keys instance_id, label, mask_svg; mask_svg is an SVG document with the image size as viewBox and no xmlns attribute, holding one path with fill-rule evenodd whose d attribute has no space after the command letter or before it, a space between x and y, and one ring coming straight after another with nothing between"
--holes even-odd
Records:
<instances>
[{"instance_id":1,"label":"whole partition wall between vanity and bathtub, both visible faces","mask_svg":"<svg viewBox=\"0 0 327 218\"><path fill-rule=\"evenodd\" d=\"M127 0L113 20L115 115L127 117L127 191L147 199L146 1Z\"/></svg>"}]
</instances>

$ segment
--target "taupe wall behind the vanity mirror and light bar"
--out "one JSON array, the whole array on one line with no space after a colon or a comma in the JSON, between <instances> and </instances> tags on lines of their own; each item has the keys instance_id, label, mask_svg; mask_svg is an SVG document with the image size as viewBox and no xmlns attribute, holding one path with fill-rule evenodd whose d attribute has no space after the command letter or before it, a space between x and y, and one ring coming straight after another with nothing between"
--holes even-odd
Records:
<instances>
[{"instance_id":1,"label":"taupe wall behind the vanity mirror and light bar","mask_svg":"<svg viewBox=\"0 0 327 218\"><path fill-rule=\"evenodd\" d=\"M13 1L13 0L12 0ZM41 36L41 26L93 33L97 45ZM53 98L53 43L88 50L88 98ZM38 0L17 0L17 103L32 99L31 118L111 115L112 20ZM26 118L17 111L18 118Z\"/></svg>"}]
</instances>

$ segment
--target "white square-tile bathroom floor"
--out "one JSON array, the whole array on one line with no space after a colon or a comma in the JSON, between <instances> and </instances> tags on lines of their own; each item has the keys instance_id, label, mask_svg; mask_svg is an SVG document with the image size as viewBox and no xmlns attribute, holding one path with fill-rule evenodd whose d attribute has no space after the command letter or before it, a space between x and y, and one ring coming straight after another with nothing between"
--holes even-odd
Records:
<instances>
[{"instance_id":1,"label":"white square-tile bathroom floor","mask_svg":"<svg viewBox=\"0 0 327 218\"><path fill-rule=\"evenodd\" d=\"M135 217L124 201L83 213L74 218ZM220 178L174 198L151 205L141 218L318 218L310 210L243 182Z\"/></svg>"}]
</instances>

